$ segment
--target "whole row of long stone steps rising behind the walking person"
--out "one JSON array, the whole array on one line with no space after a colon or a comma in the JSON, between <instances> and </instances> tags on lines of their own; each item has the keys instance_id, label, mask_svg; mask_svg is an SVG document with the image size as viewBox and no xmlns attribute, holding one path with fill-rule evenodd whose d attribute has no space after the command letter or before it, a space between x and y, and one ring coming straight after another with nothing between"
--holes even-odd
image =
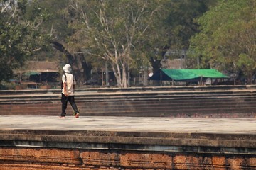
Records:
<instances>
[{"instance_id":1,"label":"whole row of long stone steps rising behind the walking person","mask_svg":"<svg viewBox=\"0 0 256 170\"><path fill-rule=\"evenodd\" d=\"M59 115L56 91L0 93L0 115ZM255 116L255 86L209 86L171 89L78 89L75 101L80 115L117 116ZM70 105L68 115L73 113Z\"/></svg>"}]
</instances>

